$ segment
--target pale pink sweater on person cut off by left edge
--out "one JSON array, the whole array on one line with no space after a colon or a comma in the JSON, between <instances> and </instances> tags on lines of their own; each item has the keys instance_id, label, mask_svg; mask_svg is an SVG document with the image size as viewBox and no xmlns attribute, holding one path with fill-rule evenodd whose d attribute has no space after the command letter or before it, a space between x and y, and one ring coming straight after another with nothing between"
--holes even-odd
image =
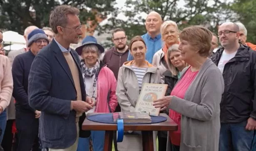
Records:
<instances>
[{"instance_id":1,"label":"pale pink sweater on person cut off by left edge","mask_svg":"<svg viewBox=\"0 0 256 151\"><path fill-rule=\"evenodd\" d=\"M12 97L13 81L10 60L0 55L0 106L7 108Z\"/></svg>"}]
</instances>

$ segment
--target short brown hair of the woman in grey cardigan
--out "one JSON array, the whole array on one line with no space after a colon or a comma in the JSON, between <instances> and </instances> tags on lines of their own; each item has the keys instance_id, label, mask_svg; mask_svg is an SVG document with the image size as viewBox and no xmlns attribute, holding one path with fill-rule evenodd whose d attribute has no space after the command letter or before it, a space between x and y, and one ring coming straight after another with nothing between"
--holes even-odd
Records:
<instances>
[{"instance_id":1,"label":"short brown hair of the woman in grey cardigan","mask_svg":"<svg viewBox=\"0 0 256 151\"><path fill-rule=\"evenodd\" d=\"M209 29L203 26L190 26L183 29L179 37L181 40L188 41L196 50L199 50L199 55L209 56L212 39Z\"/></svg>"}]
</instances>

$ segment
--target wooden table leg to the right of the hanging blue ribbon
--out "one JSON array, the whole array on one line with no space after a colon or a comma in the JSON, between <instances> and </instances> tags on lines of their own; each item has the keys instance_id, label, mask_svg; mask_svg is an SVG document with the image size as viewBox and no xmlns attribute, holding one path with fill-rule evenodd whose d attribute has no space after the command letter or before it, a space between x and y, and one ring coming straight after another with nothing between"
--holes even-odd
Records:
<instances>
[{"instance_id":1,"label":"wooden table leg to the right of the hanging blue ribbon","mask_svg":"<svg viewBox=\"0 0 256 151\"><path fill-rule=\"evenodd\" d=\"M154 151L153 131L142 131L143 151Z\"/></svg>"}]
</instances>

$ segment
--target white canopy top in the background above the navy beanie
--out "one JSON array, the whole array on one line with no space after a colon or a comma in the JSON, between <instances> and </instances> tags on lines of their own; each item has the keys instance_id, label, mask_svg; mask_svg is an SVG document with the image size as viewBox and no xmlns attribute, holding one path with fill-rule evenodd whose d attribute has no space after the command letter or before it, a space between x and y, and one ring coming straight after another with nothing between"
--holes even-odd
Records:
<instances>
[{"instance_id":1,"label":"white canopy top in the background above the navy beanie","mask_svg":"<svg viewBox=\"0 0 256 151\"><path fill-rule=\"evenodd\" d=\"M26 44L25 38L15 31L5 31L2 36L5 44Z\"/></svg>"}]
</instances>

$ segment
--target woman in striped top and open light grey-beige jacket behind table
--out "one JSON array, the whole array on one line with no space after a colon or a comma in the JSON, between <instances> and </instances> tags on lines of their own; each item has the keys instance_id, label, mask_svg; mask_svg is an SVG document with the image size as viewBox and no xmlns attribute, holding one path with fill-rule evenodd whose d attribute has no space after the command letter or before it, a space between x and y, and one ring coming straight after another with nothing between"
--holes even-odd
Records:
<instances>
[{"instance_id":1,"label":"woman in striped top and open light grey-beige jacket behind table","mask_svg":"<svg viewBox=\"0 0 256 151\"><path fill-rule=\"evenodd\" d=\"M121 112L134 112L143 83L161 83L157 67L145 60L147 48L141 36L132 38L129 50L134 60L124 62L117 79L116 94ZM153 135L156 138L156 133ZM154 140L154 149L157 151L156 139ZM125 132L124 139L117 143L117 148L119 151L142 151L141 132Z\"/></svg>"}]
</instances>

